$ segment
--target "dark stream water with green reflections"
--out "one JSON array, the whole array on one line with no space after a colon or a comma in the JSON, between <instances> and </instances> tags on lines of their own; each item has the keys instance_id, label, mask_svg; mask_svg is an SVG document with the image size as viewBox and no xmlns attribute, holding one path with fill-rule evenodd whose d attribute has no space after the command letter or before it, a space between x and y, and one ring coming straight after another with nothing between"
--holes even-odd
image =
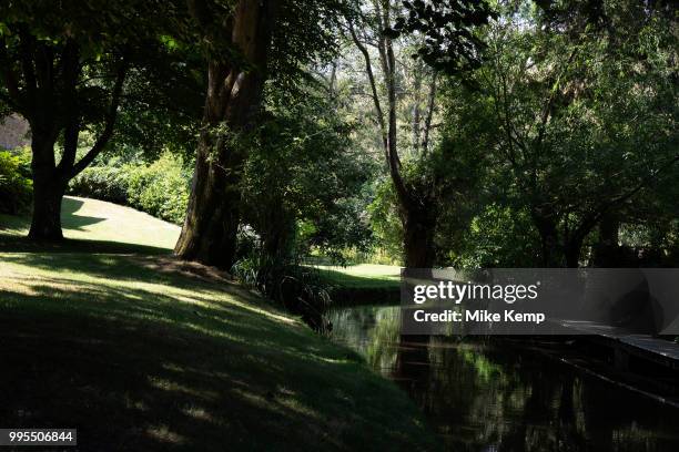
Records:
<instances>
[{"instance_id":1,"label":"dark stream water with green reflections","mask_svg":"<svg viewBox=\"0 0 679 452\"><path fill-rule=\"evenodd\" d=\"M399 336L397 307L331 314L362 353L423 409L450 451L679 452L679 409L517 347Z\"/></svg>"}]
</instances>

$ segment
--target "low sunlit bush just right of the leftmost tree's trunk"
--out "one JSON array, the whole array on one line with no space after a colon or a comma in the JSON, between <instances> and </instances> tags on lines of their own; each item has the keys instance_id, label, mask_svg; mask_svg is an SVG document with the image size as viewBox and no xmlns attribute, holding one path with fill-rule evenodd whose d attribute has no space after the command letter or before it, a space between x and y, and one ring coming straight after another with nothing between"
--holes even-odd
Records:
<instances>
[{"instance_id":1,"label":"low sunlit bush just right of the leftmost tree's trunk","mask_svg":"<svg viewBox=\"0 0 679 452\"><path fill-rule=\"evenodd\" d=\"M128 205L128 178L125 168L91 166L71 181L69 193Z\"/></svg>"}]
</instances>

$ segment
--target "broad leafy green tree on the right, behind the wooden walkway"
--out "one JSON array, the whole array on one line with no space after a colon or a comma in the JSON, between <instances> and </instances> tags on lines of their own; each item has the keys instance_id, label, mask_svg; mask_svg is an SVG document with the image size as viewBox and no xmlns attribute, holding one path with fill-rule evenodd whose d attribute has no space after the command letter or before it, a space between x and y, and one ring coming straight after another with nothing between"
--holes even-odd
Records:
<instances>
[{"instance_id":1,"label":"broad leafy green tree on the right, behind the wooden walkway","mask_svg":"<svg viewBox=\"0 0 679 452\"><path fill-rule=\"evenodd\" d=\"M569 14L569 27L509 13L476 74L497 127L488 148L529 212L544 266L578 266L597 225L614 236L609 218L679 161L668 23L605 7L616 27L589 13ZM621 21L632 11L641 16Z\"/></svg>"}]
</instances>

